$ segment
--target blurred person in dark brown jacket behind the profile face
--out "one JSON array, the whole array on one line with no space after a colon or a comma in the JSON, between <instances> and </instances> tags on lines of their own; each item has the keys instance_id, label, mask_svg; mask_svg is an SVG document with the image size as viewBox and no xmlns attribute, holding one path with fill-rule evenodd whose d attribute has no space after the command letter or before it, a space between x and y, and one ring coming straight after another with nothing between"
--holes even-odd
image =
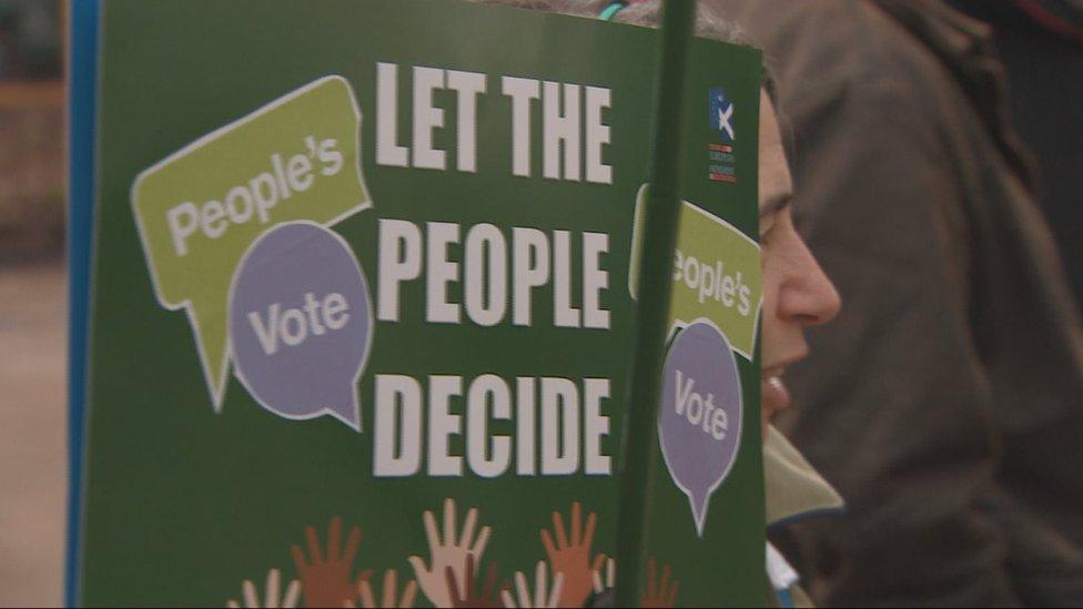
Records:
<instances>
[{"instance_id":1,"label":"blurred person in dark brown jacket behind the profile face","mask_svg":"<svg viewBox=\"0 0 1083 609\"><path fill-rule=\"evenodd\" d=\"M791 374L787 430L848 504L778 537L812 597L1083 603L1083 335L988 29L933 0L706 1L775 70L847 304Z\"/></svg>"}]
</instances>

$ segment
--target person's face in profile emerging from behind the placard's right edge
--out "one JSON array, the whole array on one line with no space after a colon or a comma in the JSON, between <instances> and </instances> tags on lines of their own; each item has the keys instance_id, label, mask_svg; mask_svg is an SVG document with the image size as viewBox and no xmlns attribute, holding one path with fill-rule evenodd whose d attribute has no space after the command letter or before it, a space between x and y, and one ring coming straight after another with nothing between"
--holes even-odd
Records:
<instances>
[{"instance_id":1,"label":"person's face in profile emerging from behind the placard's right edge","mask_svg":"<svg viewBox=\"0 0 1083 609\"><path fill-rule=\"evenodd\" d=\"M760 92L760 248L763 271L761 336L763 429L790 404L782 382L786 367L809 353L804 328L831 321L839 294L793 226L793 184L782 148L778 115Z\"/></svg>"}]
</instances>

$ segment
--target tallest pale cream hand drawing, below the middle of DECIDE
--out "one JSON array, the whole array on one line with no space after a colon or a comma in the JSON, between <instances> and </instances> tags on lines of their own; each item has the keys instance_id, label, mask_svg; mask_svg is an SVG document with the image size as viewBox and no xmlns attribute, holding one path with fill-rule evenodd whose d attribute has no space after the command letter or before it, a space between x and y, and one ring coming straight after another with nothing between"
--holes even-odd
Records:
<instances>
[{"instance_id":1,"label":"tallest pale cream hand drawing, below the middle of DECIDE","mask_svg":"<svg viewBox=\"0 0 1083 609\"><path fill-rule=\"evenodd\" d=\"M437 607L452 607L452 590L448 587L447 570L454 574L454 580L458 590L466 589L466 565L467 559L473 558L480 562L482 555L485 554L485 546L489 541L489 527L482 527L477 538L474 537L474 528L477 526L477 508L470 508L466 512L466 520L463 522L463 535L456 539L455 535L455 501L444 500L444 538L441 539L436 529L436 517L433 512L425 510L422 517L425 522L425 536L428 538L429 565L419 556L409 557L409 564L414 567L414 577L422 588L422 592L428 598L429 602Z\"/></svg>"}]
</instances>

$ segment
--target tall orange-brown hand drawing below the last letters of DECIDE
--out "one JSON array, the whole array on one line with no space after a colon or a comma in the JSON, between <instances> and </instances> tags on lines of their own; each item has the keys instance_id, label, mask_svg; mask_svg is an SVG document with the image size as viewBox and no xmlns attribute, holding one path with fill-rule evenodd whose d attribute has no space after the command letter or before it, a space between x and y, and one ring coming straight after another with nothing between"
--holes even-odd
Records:
<instances>
[{"instance_id":1,"label":"tall orange-brown hand drawing below the last letters of DECIDE","mask_svg":"<svg viewBox=\"0 0 1083 609\"><path fill-rule=\"evenodd\" d=\"M579 501L571 504L571 537L569 538L564 528L564 520L560 514L553 512L553 531L556 535L556 542L549 536L549 531L542 529L542 544L545 552L549 557L549 565L553 571L564 574L564 591L560 593L560 607L583 607L587 597L590 596L591 572L597 568L590 568L590 545L594 542L594 529L597 525L598 515L590 512L587 516L587 527L583 528L583 509ZM595 559L600 567L601 555Z\"/></svg>"}]
</instances>

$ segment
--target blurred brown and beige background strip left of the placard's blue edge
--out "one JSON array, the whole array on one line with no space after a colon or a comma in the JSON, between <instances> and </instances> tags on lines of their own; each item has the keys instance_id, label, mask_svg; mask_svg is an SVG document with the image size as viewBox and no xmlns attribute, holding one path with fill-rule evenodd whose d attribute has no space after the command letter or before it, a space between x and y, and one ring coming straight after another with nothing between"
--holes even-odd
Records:
<instances>
[{"instance_id":1,"label":"blurred brown and beige background strip left of the placard's blue edge","mask_svg":"<svg viewBox=\"0 0 1083 609\"><path fill-rule=\"evenodd\" d=\"M0 0L0 606L62 599L64 7Z\"/></svg>"}]
</instances>

